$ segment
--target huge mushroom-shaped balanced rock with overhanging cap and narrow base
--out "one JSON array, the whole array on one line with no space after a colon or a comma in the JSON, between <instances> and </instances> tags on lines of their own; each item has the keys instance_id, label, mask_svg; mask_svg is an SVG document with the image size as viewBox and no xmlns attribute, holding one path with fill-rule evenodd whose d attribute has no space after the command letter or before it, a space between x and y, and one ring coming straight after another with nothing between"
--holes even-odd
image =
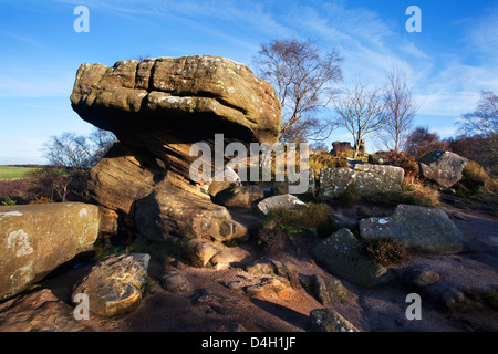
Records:
<instances>
[{"instance_id":1,"label":"huge mushroom-shaped balanced rock with overhanging cap and narrow base","mask_svg":"<svg viewBox=\"0 0 498 354\"><path fill-rule=\"evenodd\" d=\"M222 134L221 145L277 140L280 103L268 82L243 64L207 55L83 64L71 102L84 121L120 140L91 171L105 230L135 226L148 239L190 244L189 254L209 250L200 264L221 249L214 243L247 235L211 202L209 181L193 178L190 167L198 158L216 163L215 134ZM191 156L197 143L211 154Z\"/></svg>"}]
</instances>

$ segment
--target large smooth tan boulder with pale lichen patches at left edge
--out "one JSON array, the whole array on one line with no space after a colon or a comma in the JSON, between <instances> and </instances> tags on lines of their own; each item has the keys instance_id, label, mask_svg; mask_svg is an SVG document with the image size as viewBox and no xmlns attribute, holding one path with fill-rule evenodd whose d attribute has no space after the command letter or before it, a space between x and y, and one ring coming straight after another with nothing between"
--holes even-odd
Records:
<instances>
[{"instance_id":1,"label":"large smooth tan boulder with pale lichen patches at left edge","mask_svg":"<svg viewBox=\"0 0 498 354\"><path fill-rule=\"evenodd\" d=\"M0 300L93 250L98 208L82 202L0 207Z\"/></svg>"}]
</instances>

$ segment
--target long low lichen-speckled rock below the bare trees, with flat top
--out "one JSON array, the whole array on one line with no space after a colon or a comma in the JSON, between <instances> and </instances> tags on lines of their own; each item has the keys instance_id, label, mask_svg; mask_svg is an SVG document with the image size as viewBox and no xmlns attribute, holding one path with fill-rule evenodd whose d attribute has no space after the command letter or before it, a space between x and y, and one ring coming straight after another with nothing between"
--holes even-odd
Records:
<instances>
[{"instance_id":1,"label":"long low lichen-speckled rock below the bare trees, with flat top","mask_svg":"<svg viewBox=\"0 0 498 354\"><path fill-rule=\"evenodd\" d=\"M350 186L360 196L401 191L403 178L403 168L395 166L356 164L353 168L322 168L318 198L340 197Z\"/></svg>"}]
</instances>

